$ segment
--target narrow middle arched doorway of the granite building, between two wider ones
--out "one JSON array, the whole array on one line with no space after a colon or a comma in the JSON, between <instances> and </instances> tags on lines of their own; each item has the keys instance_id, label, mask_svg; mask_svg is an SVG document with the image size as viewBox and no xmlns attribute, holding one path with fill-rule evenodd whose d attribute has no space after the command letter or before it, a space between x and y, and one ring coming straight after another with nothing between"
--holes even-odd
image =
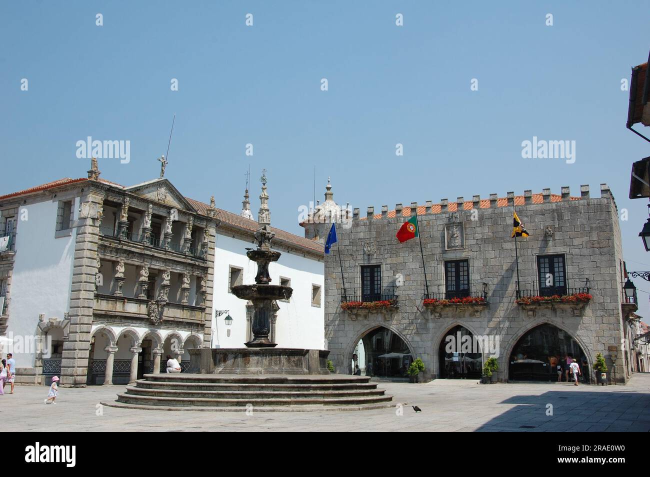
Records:
<instances>
[{"instance_id":1,"label":"narrow middle arched doorway of the granite building, between two wider ones","mask_svg":"<svg viewBox=\"0 0 650 477\"><path fill-rule=\"evenodd\" d=\"M439 347L440 377L448 380L478 379L483 370L483 355L478 341L464 326L447 331Z\"/></svg>"}]
</instances>

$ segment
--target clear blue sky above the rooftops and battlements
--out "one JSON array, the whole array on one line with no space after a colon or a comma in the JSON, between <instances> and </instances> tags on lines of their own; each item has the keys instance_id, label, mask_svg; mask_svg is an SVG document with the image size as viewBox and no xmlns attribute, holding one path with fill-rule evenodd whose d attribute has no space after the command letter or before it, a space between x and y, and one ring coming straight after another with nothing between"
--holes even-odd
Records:
<instances>
[{"instance_id":1,"label":"clear blue sky above the rooftops and battlements","mask_svg":"<svg viewBox=\"0 0 650 477\"><path fill-rule=\"evenodd\" d=\"M637 237L647 204L627 200L631 163L649 145L625 129L620 88L647 60L649 7L3 2L0 192L83 177L88 161L75 143L86 136L131 142L129 164L99 161L105 179L153 179L175 113L166 177L187 196L214 195L218 207L239 211L250 164L256 210L266 168L272 222L294 233L302 233L298 207L313 196L314 165L317 198L331 175L335 200L362 211L563 185L598 194L606 182L629 209L621 222L628 268L650 270ZM521 142L533 136L575 140L575 163L522 159ZM647 315L647 294L640 299Z\"/></svg>"}]
</instances>

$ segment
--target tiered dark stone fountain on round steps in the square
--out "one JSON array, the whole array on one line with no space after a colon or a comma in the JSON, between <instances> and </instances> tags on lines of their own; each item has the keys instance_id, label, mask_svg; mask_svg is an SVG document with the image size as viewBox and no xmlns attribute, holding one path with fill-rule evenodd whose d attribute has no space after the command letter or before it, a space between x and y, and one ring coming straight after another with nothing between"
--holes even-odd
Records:
<instances>
[{"instance_id":1,"label":"tiered dark stone fountain on round steps in the square","mask_svg":"<svg viewBox=\"0 0 650 477\"><path fill-rule=\"evenodd\" d=\"M276 348L269 339L271 318L277 300L291 297L291 287L271 285L268 266L280 253L271 250L274 233L270 227L266 175L261 177L257 249L246 255L257 264L254 285L231 290L253 303L253 339L246 348L201 348L189 350L190 368L199 374L145 374L116 402L107 406L129 409L209 409L214 411L255 409L274 411L287 407L300 410L377 409L391 407L387 396L368 376L330 374L326 350Z\"/></svg>"}]
</instances>

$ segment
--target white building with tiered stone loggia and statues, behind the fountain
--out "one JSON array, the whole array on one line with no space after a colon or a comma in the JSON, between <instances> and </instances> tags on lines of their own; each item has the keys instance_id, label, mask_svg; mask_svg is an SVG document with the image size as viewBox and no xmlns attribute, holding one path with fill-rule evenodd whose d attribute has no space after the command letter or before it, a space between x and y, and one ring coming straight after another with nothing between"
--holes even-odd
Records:
<instances>
[{"instance_id":1,"label":"white building with tiered stone loggia and statues, behind the fountain","mask_svg":"<svg viewBox=\"0 0 650 477\"><path fill-rule=\"evenodd\" d=\"M17 382L129 383L164 372L166 355L194 371L188 348L248 341L250 307L229 286L253 283L257 222L185 198L163 175L123 187L93 161L88 178L0 196L0 335ZM283 255L270 272L294 293L272 337L323 349L322 246L274 231Z\"/></svg>"}]
</instances>

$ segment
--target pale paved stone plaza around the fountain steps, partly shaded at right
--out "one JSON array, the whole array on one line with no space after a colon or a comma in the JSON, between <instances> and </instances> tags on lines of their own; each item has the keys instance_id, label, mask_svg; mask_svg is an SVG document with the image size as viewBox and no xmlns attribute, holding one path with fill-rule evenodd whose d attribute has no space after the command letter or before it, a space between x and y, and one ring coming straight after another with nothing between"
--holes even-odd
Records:
<instances>
[{"instance_id":1,"label":"pale paved stone plaza around the fountain steps, partly shaded at right","mask_svg":"<svg viewBox=\"0 0 650 477\"><path fill-rule=\"evenodd\" d=\"M131 410L98 406L123 386L61 389L45 405L47 388L16 387L0 396L3 431L570 431L649 432L650 374L628 385L567 383L478 385L469 380L426 384L382 382L395 402L415 404L370 411L239 412ZM8 390L8 387L6 388ZM547 416L547 404L553 415ZM98 415L98 413L100 415ZM523 428L521 426L534 426Z\"/></svg>"}]
</instances>

